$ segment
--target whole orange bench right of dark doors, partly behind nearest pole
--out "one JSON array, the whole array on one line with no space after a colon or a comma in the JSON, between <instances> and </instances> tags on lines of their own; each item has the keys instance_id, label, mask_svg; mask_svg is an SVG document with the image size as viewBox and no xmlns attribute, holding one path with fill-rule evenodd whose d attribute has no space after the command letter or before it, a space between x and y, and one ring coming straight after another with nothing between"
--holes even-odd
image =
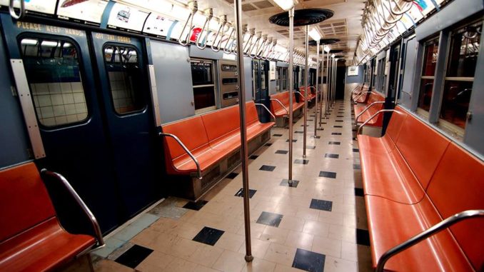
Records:
<instances>
[{"instance_id":1,"label":"whole orange bench right of dark doors, partly behind nearest pole","mask_svg":"<svg viewBox=\"0 0 484 272\"><path fill-rule=\"evenodd\" d=\"M246 102L247 141L271 129L273 122L258 120L256 105ZM162 126L165 133L177 136L196 157L201 171L241 148L241 126L238 106L212 111ZM196 164L171 137L165 137L166 168L171 174L196 172Z\"/></svg>"}]
</instances>

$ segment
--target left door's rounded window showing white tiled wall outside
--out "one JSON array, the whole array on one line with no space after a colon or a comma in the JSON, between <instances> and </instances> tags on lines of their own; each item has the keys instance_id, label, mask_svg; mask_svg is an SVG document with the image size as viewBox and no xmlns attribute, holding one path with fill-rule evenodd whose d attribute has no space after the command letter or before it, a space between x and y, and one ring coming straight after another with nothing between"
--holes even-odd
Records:
<instances>
[{"instance_id":1,"label":"left door's rounded window showing white tiled wall outside","mask_svg":"<svg viewBox=\"0 0 484 272\"><path fill-rule=\"evenodd\" d=\"M39 123L61 126L88 117L79 56L71 41L28 37L20 41Z\"/></svg>"}]
</instances>

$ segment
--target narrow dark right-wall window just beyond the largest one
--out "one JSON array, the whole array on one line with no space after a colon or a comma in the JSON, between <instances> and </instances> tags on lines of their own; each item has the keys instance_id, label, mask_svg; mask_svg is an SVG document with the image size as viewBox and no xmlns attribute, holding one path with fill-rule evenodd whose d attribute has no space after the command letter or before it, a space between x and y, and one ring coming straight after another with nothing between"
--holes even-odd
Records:
<instances>
[{"instance_id":1,"label":"narrow dark right-wall window just beyond the largest one","mask_svg":"<svg viewBox=\"0 0 484 272\"><path fill-rule=\"evenodd\" d=\"M424 47L422 76L420 79L420 91L418 92L418 108L424 111L430 110L437 56L438 38L427 41Z\"/></svg>"}]
</instances>

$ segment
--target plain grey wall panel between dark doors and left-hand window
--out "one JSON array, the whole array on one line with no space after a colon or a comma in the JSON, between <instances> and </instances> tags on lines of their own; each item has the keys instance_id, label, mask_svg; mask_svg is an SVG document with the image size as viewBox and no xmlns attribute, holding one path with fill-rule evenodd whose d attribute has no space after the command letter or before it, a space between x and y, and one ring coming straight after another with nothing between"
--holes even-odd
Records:
<instances>
[{"instance_id":1,"label":"plain grey wall panel between dark doors and left-hand window","mask_svg":"<svg viewBox=\"0 0 484 272\"><path fill-rule=\"evenodd\" d=\"M151 41L161 123L195 115L191 66L186 46Z\"/></svg>"}]
</instances>

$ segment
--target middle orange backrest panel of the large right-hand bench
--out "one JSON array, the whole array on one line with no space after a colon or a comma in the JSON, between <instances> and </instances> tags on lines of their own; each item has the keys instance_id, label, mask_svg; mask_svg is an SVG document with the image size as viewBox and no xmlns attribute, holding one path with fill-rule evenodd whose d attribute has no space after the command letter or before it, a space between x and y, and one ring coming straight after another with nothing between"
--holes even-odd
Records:
<instances>
[{"instance_id":1,"label":"middle orange backrest panel of the large right-hand bench","mask_svg":"<svg viewBox=\"0 0 484 272\"><path fill-rule=\"evenodd\" d=\"M395 144L425 189L449 143L448 138L409 114Z\"/></svg>"}]
</instances>

